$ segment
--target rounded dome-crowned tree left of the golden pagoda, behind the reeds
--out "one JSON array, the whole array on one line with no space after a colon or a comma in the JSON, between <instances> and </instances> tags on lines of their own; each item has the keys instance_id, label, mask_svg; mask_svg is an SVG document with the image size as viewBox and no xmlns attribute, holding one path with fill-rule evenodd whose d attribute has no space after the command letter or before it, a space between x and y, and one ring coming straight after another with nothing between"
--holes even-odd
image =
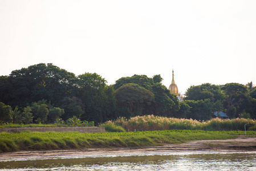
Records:
<instances>
[{"instance_id":1,"label":"rounded dome-crowned tree left of the golden pagoda, behind the reeds","mask_svg":"<svg viewBox=\"0 0 256 171\"><path fill-rule=\"evenodd\" d=\"M151 105L154 99L154 94L151 91L134 83L128 83L118 88L115 96L117 103L128 107L133 116L147 114L145 109Z\"/></svg>"}]
</instances>

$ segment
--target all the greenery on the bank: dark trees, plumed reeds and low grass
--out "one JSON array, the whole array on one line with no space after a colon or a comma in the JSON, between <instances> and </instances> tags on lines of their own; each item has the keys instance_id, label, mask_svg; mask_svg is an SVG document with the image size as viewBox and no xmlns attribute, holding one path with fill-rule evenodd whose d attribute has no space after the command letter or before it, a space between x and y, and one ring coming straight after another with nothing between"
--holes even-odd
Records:
<instances>
[{"instance_id":1,"label":"all the greenery on the bank: dark trees, plumed reeds and low grass","mask_svg":"<svg viewBox=\"0 0 256 171\"><path fill-rule=\"evenodd\" d=\"M160 145L194 137L226 139L243 135L245 124L246 134L254 136L256 87L252 82L191 86L184 101L178 101L161 82L160 75L133 75L107 85L96 73L75 76L51 63L0 76L2 128L99 125L113 132L1 133L0 150ZM220 111L231 120L212 119L213 112Z\"/></svg>"}]
</instances>

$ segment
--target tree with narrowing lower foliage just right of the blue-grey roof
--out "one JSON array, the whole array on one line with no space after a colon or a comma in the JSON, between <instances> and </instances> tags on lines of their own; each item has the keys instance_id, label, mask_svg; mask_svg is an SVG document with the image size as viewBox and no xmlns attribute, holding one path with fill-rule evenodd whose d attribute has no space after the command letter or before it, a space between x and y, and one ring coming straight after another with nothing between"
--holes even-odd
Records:
<instances>
[{"instance_id":1,"label":"tree with narrowing lower foliage just right of the blue-grey roof","mask_svg":"<svg viewBox=\"0 0 256 171\"><path fill-rule=\"evenodd\" d=\"M246 99L248 89L246 86L238 83L227 83L221 88L226 95L227 115L231 107L239 104L243 99Z\"/></svg>"}]
</instances>

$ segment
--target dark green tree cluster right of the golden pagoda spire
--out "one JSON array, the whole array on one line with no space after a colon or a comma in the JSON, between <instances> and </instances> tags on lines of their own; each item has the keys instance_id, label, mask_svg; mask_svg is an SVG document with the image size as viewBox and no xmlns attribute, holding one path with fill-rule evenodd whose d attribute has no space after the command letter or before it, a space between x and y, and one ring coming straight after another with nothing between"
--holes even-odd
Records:
<instances>
[{"instance_id":1,"label":"dark green tree cluster right of the golden pagoda spire","mask_svg":"<svg viewBox=\"0 0 256 171\"><path fill-rule=\"evenodd\" d=\"M213 111L226 112L230 119L237 117L256 118L256 87L227 83L216 86L209 83L191 86L185 93L185 102L190 107L187 118L207 120Z\"/></svg>"}]
</instances>

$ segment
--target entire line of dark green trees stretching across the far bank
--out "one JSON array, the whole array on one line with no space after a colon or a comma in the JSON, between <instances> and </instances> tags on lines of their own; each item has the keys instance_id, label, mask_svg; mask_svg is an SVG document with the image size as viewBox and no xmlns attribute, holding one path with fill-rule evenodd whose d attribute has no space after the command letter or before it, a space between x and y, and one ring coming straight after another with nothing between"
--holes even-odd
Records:
<instances>
[{"instance_id":1,"label":"entire line of dark green trees stretching across the far bank","mask_svg":"<svg viewBox=\"0 0 256 171\"><path fill-rule=\"evenodd\" d=\"M180 102L161 81L160 75L133 75L108 86L96 73L75 76L40 63L0 76L0 121L54 123L76 116L99 124L143 115L208 120L214 111L227 112L231 118L256 117L252 83L192 86Z\"/></svg>"}]
</instances>

